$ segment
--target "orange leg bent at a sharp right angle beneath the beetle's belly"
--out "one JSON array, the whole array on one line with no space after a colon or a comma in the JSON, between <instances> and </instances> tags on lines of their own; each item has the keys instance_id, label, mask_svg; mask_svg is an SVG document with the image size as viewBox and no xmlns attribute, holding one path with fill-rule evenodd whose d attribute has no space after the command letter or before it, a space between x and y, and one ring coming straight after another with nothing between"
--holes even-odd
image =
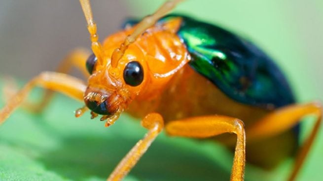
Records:
<instances>
[{"instance_id":1,"label":"orange leg bent at a sharp right angle beneath the beetle's belly","mask_svg":"<svg viewBox=\"0 0 323 181\"><path fill-rule=\"evenodd\" d=\"M233 159L231 181L243 181L246 162L244 123L226 116L206 116L171 121L165 126L168 134L193 138L207 138L222 133L235 133L237 144Z\"/></svg>"}]
</instances>

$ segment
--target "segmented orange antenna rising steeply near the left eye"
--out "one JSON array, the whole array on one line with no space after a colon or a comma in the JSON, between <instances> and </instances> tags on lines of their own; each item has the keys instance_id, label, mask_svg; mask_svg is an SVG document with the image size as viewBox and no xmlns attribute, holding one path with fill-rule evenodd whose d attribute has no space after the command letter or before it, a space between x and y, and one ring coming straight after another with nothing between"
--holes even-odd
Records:
<instances>
[{"instance_id":1,"label":"segmented orange antenna rising steeply near the left eye","mask_svg":"<svg viewBox=\"0 0 323 181\"><path fill-rule=\"evenodd\" d=\"M105 62L105 59L102 57L102 48L101 44L98 41L99 36L97 34L97 24L93 21L93 15L92 15L92 10L91 10L91 4L90 0L79 0L82 10L87 22L87 30L89 30L90 33L90 39L92 42L91 48L94 53L94 55L97 57L98 62L101 65L106 65L107 62Z\"/></svg>"}]
</instances>

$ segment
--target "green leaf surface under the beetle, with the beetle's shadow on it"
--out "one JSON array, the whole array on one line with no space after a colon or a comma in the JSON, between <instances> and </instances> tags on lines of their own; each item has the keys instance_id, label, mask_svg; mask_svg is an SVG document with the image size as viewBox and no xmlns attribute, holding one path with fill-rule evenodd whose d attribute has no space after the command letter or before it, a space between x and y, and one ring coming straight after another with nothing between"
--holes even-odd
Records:
<instances>
[{"instance_id":1,"label":"green leaf surface under the beetle, with the beetle's shadow on it","mask_svg":"<svg viewBox=\"0 0 323 181\"><path fill-rule=\"evenodd\" d=\"M38 100L39 91L30 99ZM82 105L57 94L42 114L15 111L0 126L0 180L105 181L146 130L126 114L108 128L89 113L76 119L73 111ZM214 141L162 132L125 181L228 181L232 160ZM246 180L282 180L288 168L290 160L274 172L247 165Z\"/></svg>"}]
</instances>

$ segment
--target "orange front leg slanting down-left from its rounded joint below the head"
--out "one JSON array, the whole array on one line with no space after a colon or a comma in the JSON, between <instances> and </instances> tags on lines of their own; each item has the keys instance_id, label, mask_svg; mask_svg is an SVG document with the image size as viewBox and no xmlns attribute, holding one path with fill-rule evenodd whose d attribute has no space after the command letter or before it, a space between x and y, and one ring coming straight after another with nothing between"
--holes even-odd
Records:
<instances>
[{"instance_id":1,"label":"orange front leg slanting down-left from its rounded joint below the head","mask_svg":"<svg viewBox=\"0 0 323 181\"><path fill-rule=\"evenodd\" d=\"M144 118L142 125L149 130L148 133L120 161L107 181L120 181L130 172L163 129L164 121L159 114L151 113Z\"/></svg>"}]
</instances>

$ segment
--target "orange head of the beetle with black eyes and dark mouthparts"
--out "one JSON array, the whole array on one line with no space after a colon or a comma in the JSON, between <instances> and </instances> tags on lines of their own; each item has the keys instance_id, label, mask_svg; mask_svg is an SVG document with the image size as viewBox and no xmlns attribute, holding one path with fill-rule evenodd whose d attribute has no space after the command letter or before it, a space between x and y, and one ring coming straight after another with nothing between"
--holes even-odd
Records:
<instances>
[{"instance_id":1,"label":"orange head of the beetle with black eyes and dark mouthparts","mask_svg":"<svg viewBox=\"0 0 323 181\"><path fill-rule=\"evenodd\" d=\"M88 87L84 94L84 102L92 111L92 115L104 115L102 120L117 118L143 90L149 79L149 69L144 60L144 53L136 46L131 45L118 61L116 67L112 67L110 60L112 52L120 45L113 38L119 34L110 36L104 46L105 61L98 60L91 55L87 60L87 69L91 76L88 79ZM119 39L119 38L118 38ZM101 62L107 62L106 65Z\"/></svg>"}]
</instances>

